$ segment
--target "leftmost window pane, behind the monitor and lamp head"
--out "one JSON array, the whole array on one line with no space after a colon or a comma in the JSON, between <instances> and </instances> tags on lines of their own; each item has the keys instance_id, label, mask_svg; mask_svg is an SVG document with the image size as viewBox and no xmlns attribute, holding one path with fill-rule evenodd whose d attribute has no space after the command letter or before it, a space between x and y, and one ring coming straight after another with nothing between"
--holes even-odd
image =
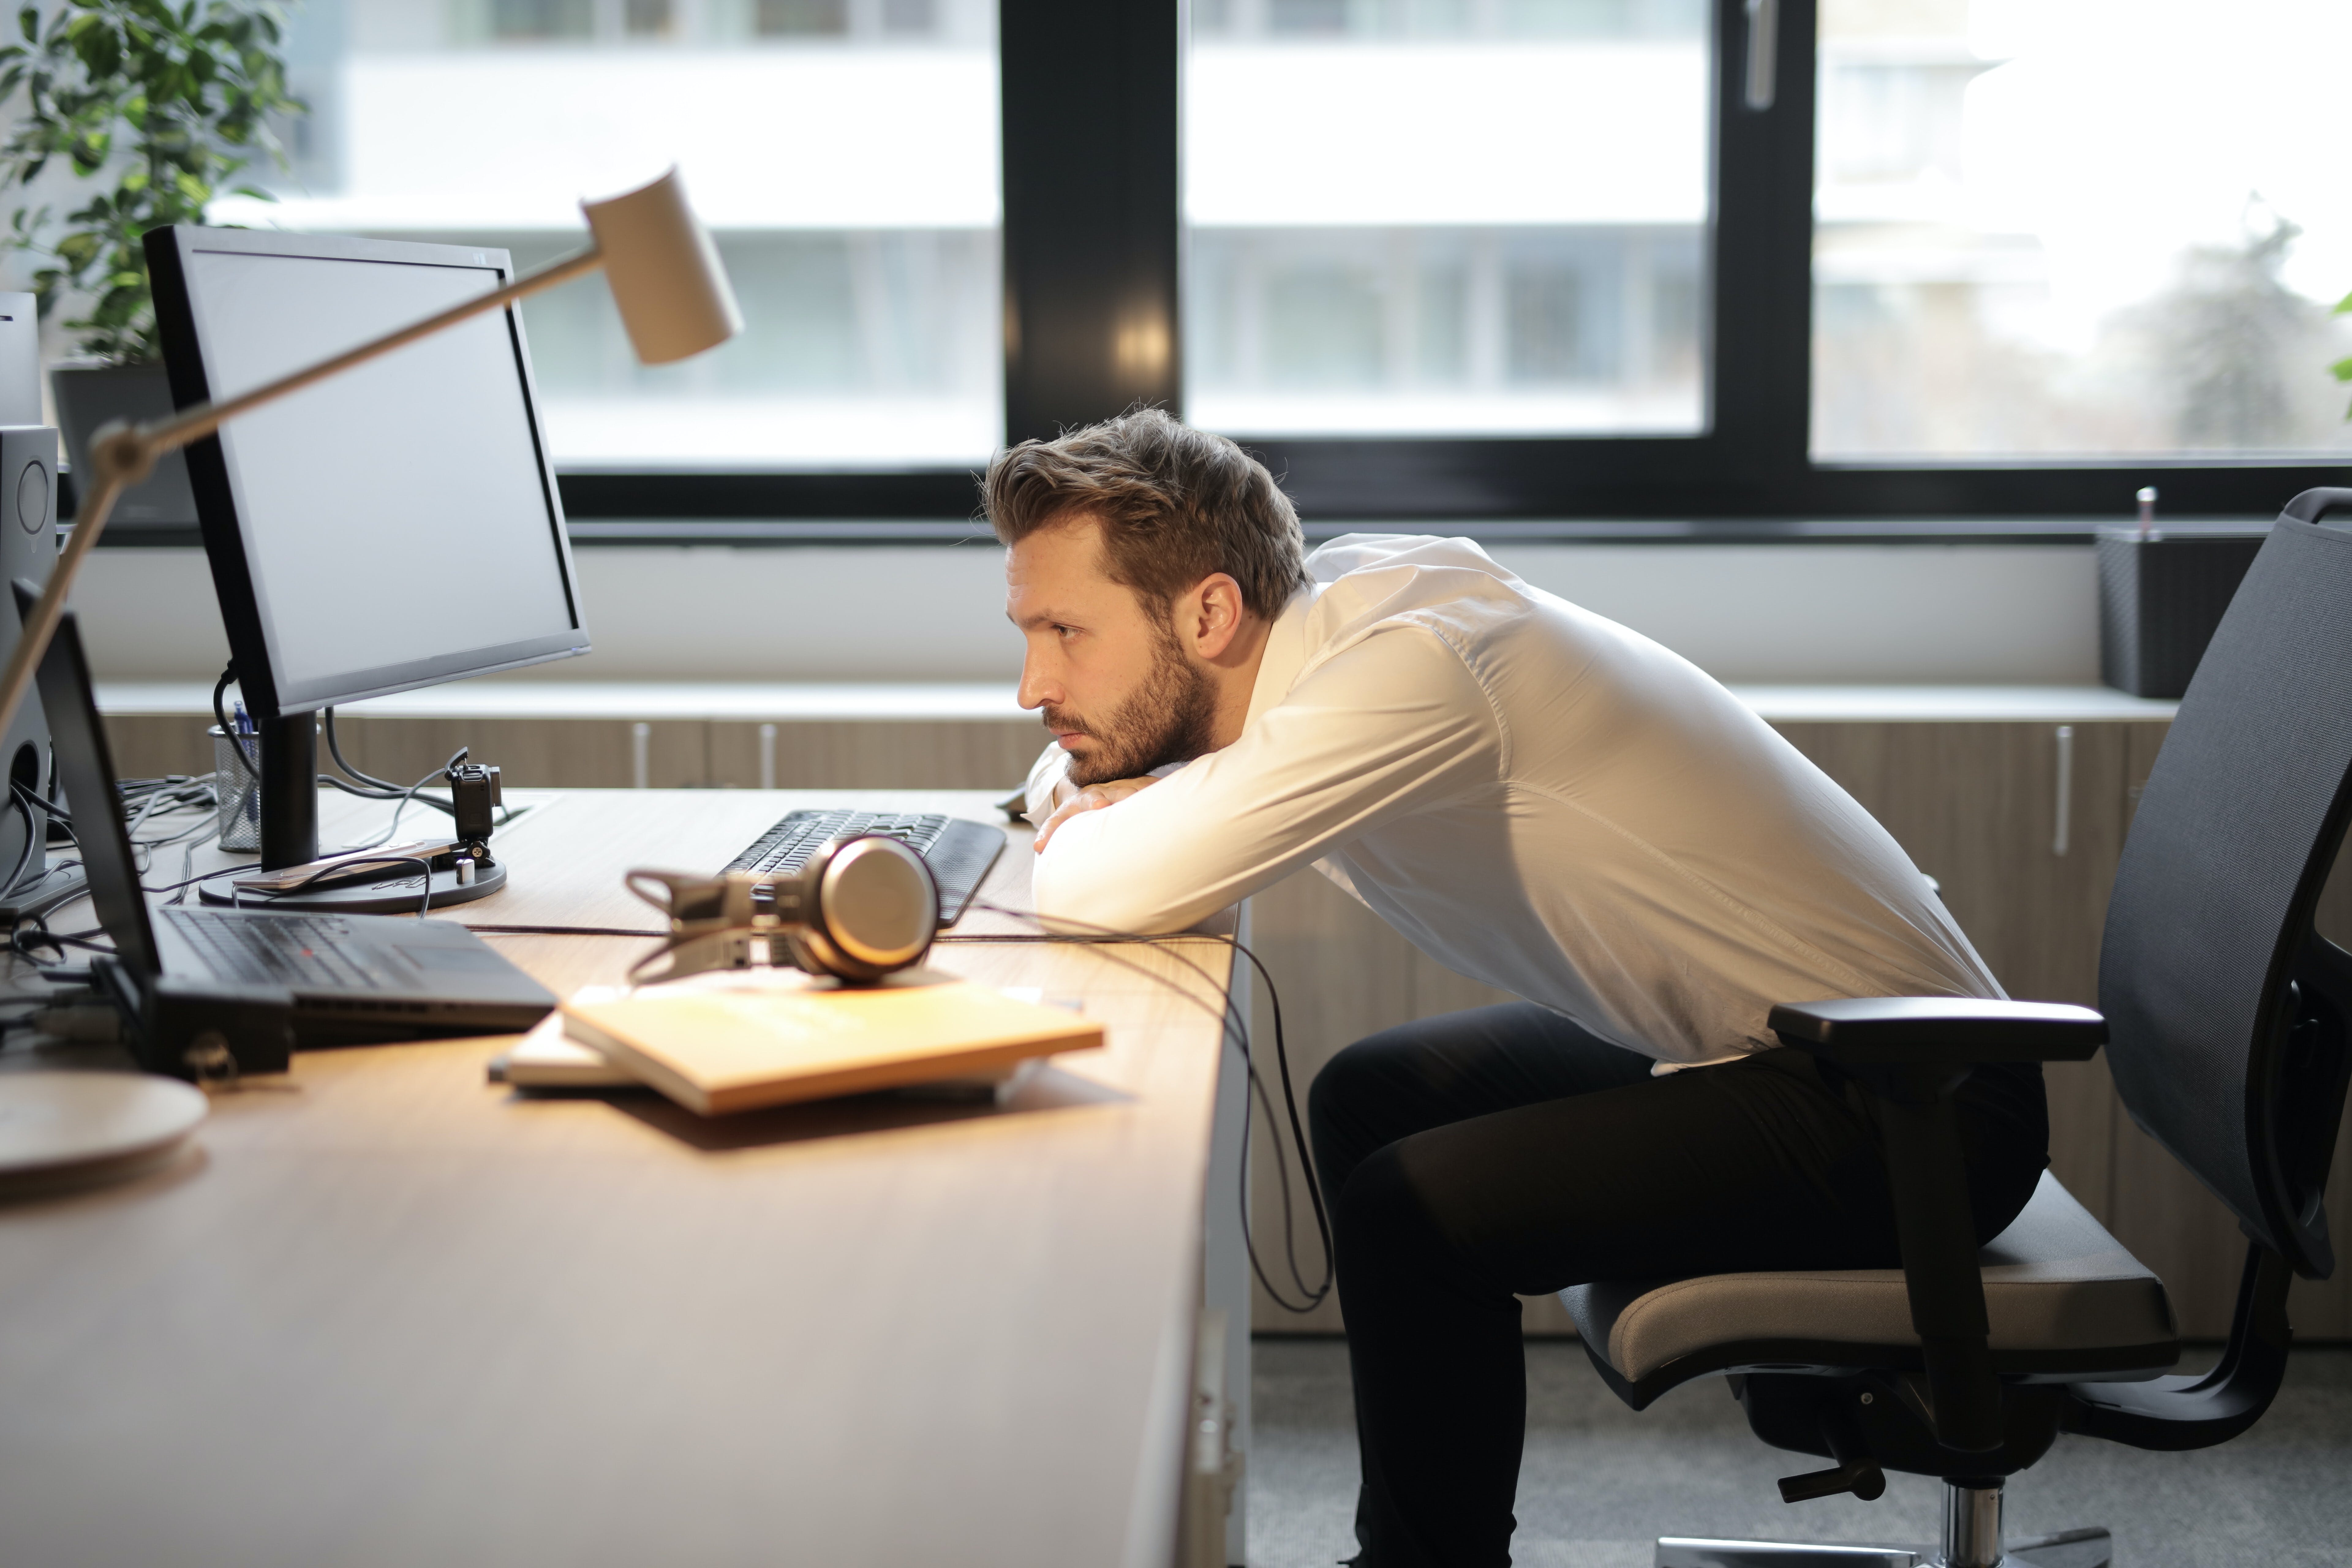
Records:
<instances>
[{"instance_id":1,"label":"leftmost window pane, behind the monitor and lamp head","mask_svg":"<svg viewBox=\"0 0 2352 1568\"><path fill-rule=\"evenodd\" d=\"M524 303L567 470L917 468L1002 440L993 0L306 0L278 202L214 221L583 244L677 162L743 303L684 364L600 280Z\"/></svg>"}]
</instances>

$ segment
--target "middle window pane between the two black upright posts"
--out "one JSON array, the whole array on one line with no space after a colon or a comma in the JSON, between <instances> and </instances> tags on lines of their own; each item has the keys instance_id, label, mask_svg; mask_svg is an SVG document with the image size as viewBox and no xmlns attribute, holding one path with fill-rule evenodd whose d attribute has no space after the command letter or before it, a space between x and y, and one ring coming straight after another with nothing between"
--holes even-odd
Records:
<instances>
[{"instance_id":1,"label":"middle window pane between the two black upright posts","mask_svg":"<svg viewBox=\"0 0 2352 1568\"><path fill-rule=\"evenodd\" d=\"M1185 414L1705 428L1705 0L1195 0Z\"/></svg>"}]
</instances>

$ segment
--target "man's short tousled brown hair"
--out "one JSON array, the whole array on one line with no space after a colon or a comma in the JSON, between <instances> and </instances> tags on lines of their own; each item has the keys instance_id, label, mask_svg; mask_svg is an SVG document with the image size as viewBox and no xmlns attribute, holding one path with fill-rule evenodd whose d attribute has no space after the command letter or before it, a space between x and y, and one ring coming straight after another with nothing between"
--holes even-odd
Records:
<instances>
[{"instance_id":1,"label":"man's short tousled brown hair","mask_svg":"<svg viewBox=\"0 0 2352 1568\"><path fill-rule=\"evenodd\" d=\"M988 465L981 498L1007 545L1101 517L1105 574L1162 609L1223 571L1272 621L1308 581L1298 512L1265 463L1162 409L1021 442Z\"/></svg>"}]
</instances>

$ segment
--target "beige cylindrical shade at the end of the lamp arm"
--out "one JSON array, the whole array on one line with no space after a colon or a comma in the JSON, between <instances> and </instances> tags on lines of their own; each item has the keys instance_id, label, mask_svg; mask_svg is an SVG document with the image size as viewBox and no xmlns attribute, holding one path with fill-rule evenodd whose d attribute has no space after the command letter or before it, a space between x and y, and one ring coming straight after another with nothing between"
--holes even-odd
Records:
<instances>
[{"instance_id":1,"label":"beige cylindrical shade at the end of the lamp arm","mask_svg":"<svg viewBox=\"0 0 2352 1568\"><path fill-rule=\"evenodd\" d=\"M581 212L640 362L687 360L743 331L727 268L675 167L652 186L581 202Z\"/></svg>"}]
</instances>

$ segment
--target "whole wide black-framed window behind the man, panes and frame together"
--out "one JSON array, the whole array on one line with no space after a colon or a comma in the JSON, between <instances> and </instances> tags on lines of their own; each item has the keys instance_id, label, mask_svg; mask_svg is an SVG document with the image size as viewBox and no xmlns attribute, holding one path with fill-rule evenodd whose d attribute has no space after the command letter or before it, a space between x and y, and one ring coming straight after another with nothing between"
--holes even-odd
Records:
<instances>
[{"instance_id":1,"label":"whole wide black-framed window behind the man, panes and frame together","mask_svg":"<svg viewBox=\"0 0 2352 1568\"><path fill-rule=\"evenodd\" d=\"M527 306L588 529L962 534L993 449L1134 402L1315 529L2079 536L2352 461L2343 0L308 0L289 42L285 200L219 221L532 266L684 167L739 343L649 371L597 284Z\"/></svg>"}]
</instances>

